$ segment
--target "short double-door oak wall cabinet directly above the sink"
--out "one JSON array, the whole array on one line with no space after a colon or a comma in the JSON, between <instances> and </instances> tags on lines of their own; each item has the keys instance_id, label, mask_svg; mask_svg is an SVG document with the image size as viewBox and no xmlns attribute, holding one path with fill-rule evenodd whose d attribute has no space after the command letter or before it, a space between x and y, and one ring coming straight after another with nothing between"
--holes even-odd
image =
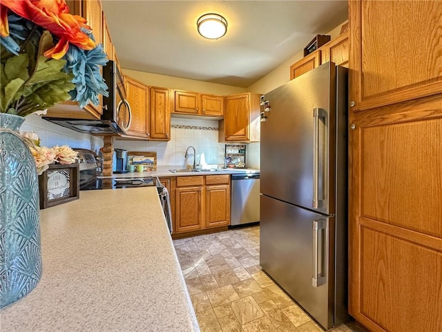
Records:
<instances>
[{"instance_id":1,"label":"short double-door oak wall cabinet directly above the sink","mask_svg":"<svg viewBox=\"0 0 442 332\"><path fill-rule=\"evenodd\" d=\"M174 90L173 113L175 114L222 117L223 112L224 97L221 95Z\"/></svg>"}]
</instances>

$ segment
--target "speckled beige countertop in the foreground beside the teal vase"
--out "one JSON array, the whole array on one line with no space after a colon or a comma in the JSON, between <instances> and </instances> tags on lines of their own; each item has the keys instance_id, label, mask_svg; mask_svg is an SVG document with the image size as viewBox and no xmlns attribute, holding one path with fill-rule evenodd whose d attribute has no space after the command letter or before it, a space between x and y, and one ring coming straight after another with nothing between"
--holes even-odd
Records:
<instances>
[{"instance_id":1,"label":"speckled beige countertop in the foreground beside the teal vase","mask_svg":"<svg viewBox=\"0 0 442 332\"><path fill-rule=\"evenodd\" d=\"M155 187L41 210L43 275L6 331L200 331Z\"/></svg>"}]
</instances>

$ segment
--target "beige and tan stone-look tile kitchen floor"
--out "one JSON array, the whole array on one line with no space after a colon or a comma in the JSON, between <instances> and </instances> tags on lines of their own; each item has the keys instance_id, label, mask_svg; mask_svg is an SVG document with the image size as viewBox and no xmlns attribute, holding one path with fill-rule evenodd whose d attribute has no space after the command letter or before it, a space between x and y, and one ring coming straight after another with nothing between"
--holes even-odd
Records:
<instances>
[{"instance_id":1,"label":"beige and tan stone-look tile kitchen floor","mask_svg":"<svg viewBox=\"0 0 442 332\"><path fill-rule=\"evenodd\" d=\"M260 228L174 240L202 332L323 332L259 266ZM349 322L334 332L363 332Z\"/></svg>"}]
</instances>

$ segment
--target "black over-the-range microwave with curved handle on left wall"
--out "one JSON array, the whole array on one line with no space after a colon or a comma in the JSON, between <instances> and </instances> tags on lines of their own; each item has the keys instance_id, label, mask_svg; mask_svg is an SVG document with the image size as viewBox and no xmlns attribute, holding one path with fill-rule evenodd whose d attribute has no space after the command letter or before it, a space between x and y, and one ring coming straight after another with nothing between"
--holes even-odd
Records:
<instances>
[{"instance_id":1,"label":"black over-the-range microwave with curved handle on left wall","mask_svg":"<svg viewBox=\"0 0 442 332\"><path fill-rule=\"evenodd\" d=\"M80 133L125 134L131 127L132 113L126 100L123 76L115 61L109 60L103 66L103 78L108 85L109 95L103 96L103 113L100 119L43 118Z\"/></svg>"}]
</instances>

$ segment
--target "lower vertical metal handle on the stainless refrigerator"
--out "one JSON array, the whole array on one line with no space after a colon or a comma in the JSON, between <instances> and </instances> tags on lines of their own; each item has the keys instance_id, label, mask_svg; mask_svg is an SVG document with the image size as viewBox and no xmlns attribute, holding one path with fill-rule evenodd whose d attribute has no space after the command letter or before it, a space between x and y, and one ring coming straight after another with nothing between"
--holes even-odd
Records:
<instances>
[{"instance_id":1,"label":"lower vertical metal handle on the stainless refrigerator","mask_svg":"<svg viewBox=\"0 0 442 332\"><path fill-rule=\"evenodd\" d=\"M327 221L313 221L313 277L311 284L319 287L325 284L325 273L323 273L324 254L324 234L327 227Z\"/></svg>"}]
</instances>

